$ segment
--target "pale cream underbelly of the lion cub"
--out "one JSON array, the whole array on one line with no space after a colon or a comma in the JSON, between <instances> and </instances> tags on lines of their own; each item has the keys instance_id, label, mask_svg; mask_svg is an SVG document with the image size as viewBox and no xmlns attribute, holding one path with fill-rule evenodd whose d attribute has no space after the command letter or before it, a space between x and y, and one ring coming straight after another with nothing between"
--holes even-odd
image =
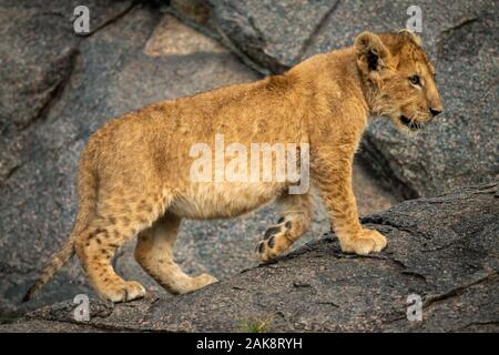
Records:
<instances>
[{"instance_id":1,"label":"pale cream underbelly of the lion cub","mask_svg":"<svg viewBox=\"0 0 499 355\"><path fill-rule=\"evenodd\" d=\"M234 217L271 202L283 187L275 183L196 183L177 195L169 210L194 220Z\"/></svg>"}]
</instances>

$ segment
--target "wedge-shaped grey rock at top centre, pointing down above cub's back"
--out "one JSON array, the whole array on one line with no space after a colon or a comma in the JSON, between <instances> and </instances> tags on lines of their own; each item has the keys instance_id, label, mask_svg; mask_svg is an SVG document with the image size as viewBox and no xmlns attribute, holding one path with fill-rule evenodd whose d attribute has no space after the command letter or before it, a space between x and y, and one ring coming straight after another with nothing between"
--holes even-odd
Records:
<instances>
[{"instance_id":1,"label":"wedge-shaped grey rock at top centre, pointing down above cub's back","mask_svg":"<svg viewBox=\"0 0 499 355\"><path fill-rule=\"evenodd\" d=\"M202 26L227 47L255 60L264 73L282 72L303 58L308 41L338 1L182 0L173 12ZM268 71L269 70L269 71Z\"/></svg>"}]
</instances>

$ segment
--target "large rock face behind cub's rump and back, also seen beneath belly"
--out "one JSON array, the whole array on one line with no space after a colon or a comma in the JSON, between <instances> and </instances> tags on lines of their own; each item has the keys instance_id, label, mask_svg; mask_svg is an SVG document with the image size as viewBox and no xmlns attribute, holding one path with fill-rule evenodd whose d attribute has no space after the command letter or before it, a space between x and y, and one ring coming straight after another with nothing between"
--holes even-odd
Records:
<instances>
[{"instance_id":1,"label":"large rock face behind cub's rump and back, also seen beneath belly","mask_svg":"<svg viewBox=\"0 0 499 355\"><path fill-rule=\"evenodd\" d=\"M91 34L77 36L70 21L77 4L0 2L0 322L27 307L91 294L73 260L38 300L20 304L72 227L78 156L95 129L154 101L258 78L212 38L132 1L85 1ZM397 201L361 164L355 170L363 214ZM186 221L176 258L189 273L226 277L255 265L256 241L276 220L269 206L231 221ZM317 213L301 242L328 229ZM118 271L166 296L132 248L120 251Z\"/></svg>"}]
</instances>

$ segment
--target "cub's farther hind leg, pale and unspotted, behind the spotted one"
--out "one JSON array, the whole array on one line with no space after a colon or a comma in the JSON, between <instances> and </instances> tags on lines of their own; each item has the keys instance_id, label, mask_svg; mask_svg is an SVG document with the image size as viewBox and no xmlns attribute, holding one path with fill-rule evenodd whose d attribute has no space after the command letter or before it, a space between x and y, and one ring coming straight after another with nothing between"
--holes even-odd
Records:
<instances>
[{"instance_id":1,"label":"cub's farther hind leg, pale and unspotted, behind the spotted one","mask_svg":"<svg viewBox=\"0 0 499 355\"><path fill-rule=\"evenodd\" d=\"M208 274L186 275L173 261L173 246L181 219L166 213L139 234L135 258L142 268L172 294L183 294L217 282Z\"/></svg>"}]
</instances>

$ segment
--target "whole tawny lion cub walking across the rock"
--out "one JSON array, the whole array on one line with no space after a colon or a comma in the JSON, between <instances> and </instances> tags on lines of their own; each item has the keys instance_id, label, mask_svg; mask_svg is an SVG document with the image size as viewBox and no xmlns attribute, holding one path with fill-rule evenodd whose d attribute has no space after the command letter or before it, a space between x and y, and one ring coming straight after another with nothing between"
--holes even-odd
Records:
<instances>
[{"instance_id":1,"label":"whole tawny lion cub walking across the rock","mask_svg":"<svg viewBox=\"0 0 499 355\"><path fill-rule=\"evenodd\" d=\"M217 163L230 164L230 159L216 152L210 158L214 171L213 165L203 168L204 178L215 178L193 179L197 153L212 148L220 135L233 151L251 150L254 143L291 143L295 153L307 151L305 163L294 154L288 168L306 168L342 250L381 251L385 236L358 220L352 191L354 153L370 115L388 116L403 130L416 131L440 113L434 77L414 33L364 32L353 47L312 57L282 75L159 102L110 121L81 154L73 232L26 300L73 252L102 298L144 296L141 284L124 281L111 265L116 248L135 235L136 261L167 291L181 294L214 283L211 275L189 276L175 264L181 220L232 217L273 200L281 205L282 219L265 232L256 253L267 262L286 251L310 223L310 193L291 193L297 180L220 179L226 176ZM193 149L198 144L201 150ZM277 156L267 161L277 163ZM243 160L240 165L246 164ZM266 168L261 165L257 172Z\"/></svg>"}]
</instances>

